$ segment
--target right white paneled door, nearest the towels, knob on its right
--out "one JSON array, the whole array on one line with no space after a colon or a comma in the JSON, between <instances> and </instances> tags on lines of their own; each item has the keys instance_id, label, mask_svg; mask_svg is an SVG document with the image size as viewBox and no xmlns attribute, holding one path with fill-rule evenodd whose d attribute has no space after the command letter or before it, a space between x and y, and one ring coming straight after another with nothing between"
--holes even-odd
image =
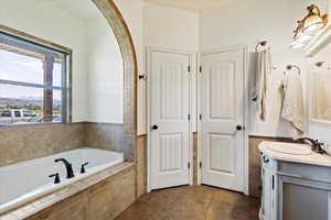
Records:
<instances>
[{"instance_id":1,"label":"right white paneled door, nearest the towels, knob on its right","mask_svg":"<svg viewBox=\"0 0 331 220\"><path fill-rule=\"evenodd\" d=\"M201 57L202 184L244 190L243 48Z\"/></svg>"}]
</instances>

